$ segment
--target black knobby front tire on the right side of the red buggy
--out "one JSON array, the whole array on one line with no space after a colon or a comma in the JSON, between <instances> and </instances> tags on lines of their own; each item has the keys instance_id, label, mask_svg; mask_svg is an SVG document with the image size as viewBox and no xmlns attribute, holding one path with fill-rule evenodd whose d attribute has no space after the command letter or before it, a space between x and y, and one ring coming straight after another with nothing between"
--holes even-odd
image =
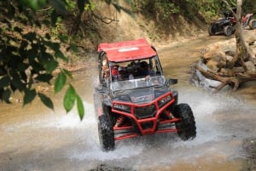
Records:
<instances>
[{"instance_id":1,"label":"black knobby front tire on the right side of the red buggy","mask_svg":"<svg viewBox=\"0 0 256 171\"><path fill-rule=\"evenodd\" d=\"M181 118L176 123L177 134L182 140L192 140L196 136L195 117L189 105L176 105L173 113L174 117Z\"/></svg>"}]
</instances>

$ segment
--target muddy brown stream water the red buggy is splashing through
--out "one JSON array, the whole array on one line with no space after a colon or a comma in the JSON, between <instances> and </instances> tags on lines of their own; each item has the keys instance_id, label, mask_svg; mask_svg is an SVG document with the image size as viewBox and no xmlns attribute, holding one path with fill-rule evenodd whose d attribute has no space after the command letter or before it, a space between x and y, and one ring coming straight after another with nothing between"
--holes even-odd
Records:
<instances>
[{"instance_id":1,"label":"muddy brown stream water the red buggy is splashing through","mask_svg":"<svg viewBox=\"0 0 256 171\"><path fill-rule=\"evenodd\" d=\"M228 88L218 94L189 83L189 71L200 51L228 38L204 36L155 47L166 77L178 79L172 88L178 90L179 103L188 103L194 112L195 140L182 141L172 133L154 134L117 141L114 151L102 152L92 99L97 74L92 58L90 70L76 72L72 81L84 101L83 121L75 109L65 113L63 94L52 95L50 87L45 94L53 98L55 111L38 99L24 107L21 103L0 104L0 170L81 171L101 163L139 171L247 168L242 141L256 135L256 83L246 83L236 93ZM20 99L20 94L13 97Z\"/></svg>"}]
</instances>

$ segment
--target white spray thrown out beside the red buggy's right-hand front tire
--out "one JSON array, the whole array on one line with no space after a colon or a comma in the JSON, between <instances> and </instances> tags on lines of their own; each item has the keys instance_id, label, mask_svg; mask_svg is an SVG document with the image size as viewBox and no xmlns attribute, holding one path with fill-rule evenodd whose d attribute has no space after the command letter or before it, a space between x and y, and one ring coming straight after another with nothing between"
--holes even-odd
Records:
<instances>
[{"instance_id":1,"label":"white spray thrown out beside the red buggy's right-hand front tire","mask_svg":"<svg viewBox=\"0 0 256 171\"><path fill-rule=\"evenodd\" d=\"M219 111L244 107L241 100L219 94L184 94L180 99L180 101L188 103L194 113L197 134L194 140L177 140L173 144L174 148L193 148L193 146L218 143L218 141L230 139L234 133L225 131L221 125L223 121L218 121L216 115L218 115ZM226 148L218 152L226 152L233 155L236 151ZM195 152L195 155L198 154Z\"/></svg>"}]
</instances>

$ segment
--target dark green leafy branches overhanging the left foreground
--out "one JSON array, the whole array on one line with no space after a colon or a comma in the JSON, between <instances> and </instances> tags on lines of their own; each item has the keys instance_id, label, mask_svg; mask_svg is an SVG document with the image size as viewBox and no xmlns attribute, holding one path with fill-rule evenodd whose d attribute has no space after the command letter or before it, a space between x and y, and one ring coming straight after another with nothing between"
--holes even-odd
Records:
<instances>
[{"instance_id":1,"label":"dark green leafy branches overhanging the left foreground","mask_svg":"<svg viewBox=\"0 0 256 171\"><path fill-rule=\"evenodd\" d=\"M48 8L49 18L41 17L38 10ZM64 0L21 0L1 1L0 10L0 100L10 103L12 93L23 93L23 105L31 103L36 96L50 109L54 110L52 101L43 93L33 88L36 81L51 83L53 71L59 68L59 61L68 61L61 51L61 43L67 43L67 36L55 32L55 40L49 33L38 33L36 27L56 26L60 29L61 20L58 14L65 13L67 3ZM41 19L41 20L40 20ZM49 20L50 19L50 20ZM56 39L57 38L57 39ZM74 45L72 44L72 49ZM67 70L55 79L55 93L72 77ZM64 97L66 111L73 108L74 100L78 100L79 117L84 117L84 105L79 95L70 84Z\"/></svg>"}]
</instances>

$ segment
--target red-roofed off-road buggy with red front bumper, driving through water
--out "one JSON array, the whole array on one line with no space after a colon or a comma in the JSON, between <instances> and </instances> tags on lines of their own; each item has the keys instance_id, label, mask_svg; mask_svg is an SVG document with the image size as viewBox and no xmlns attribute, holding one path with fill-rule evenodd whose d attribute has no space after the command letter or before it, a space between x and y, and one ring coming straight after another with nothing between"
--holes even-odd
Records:
<instances>
[{"instance_id":1,"label":"red-roofed off-road buggy with red front bumper, driving through water","mask_svg":"<svg viewBox=\"0 0 256 171\"><path fill-rule=\"evenodd\" d=\"M98 134L103 151L116 140L156 133L195 138L189 105L177 104L177 91L166 80L154 47L141 38L98 46L99 83L94 94ZM132 77L131 77L132 75Z\"/></svg>"}]
</instances>

